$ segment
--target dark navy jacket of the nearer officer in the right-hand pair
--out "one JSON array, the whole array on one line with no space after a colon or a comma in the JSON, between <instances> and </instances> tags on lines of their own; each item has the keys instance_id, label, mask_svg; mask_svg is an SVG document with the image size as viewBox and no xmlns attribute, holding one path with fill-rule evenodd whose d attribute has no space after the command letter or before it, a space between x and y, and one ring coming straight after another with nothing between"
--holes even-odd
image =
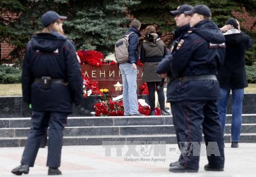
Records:
<instances>
[{"instance_id":1,"label":"dark navy jacket of the nearer officer in the right-hand pair","mask_svg":"<svg viewBox=\"0 0 256 177\"><path fill-rule=\"evenodd\" d=\"M217 100L220 96L217 80L182 81L182 77L216 75L224 62L225 37L209 19L190 30L180 39L176 51L168 56L173 78L181 79L177 89L167 93L167 101Z\"/></svg>"}]
</instances>

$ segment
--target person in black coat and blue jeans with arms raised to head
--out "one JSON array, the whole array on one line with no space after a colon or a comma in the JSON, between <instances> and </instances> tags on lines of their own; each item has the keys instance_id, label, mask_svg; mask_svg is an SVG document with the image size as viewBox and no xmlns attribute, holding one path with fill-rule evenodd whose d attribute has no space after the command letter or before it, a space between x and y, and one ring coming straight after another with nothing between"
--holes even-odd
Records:
<instances>
[{"instance_id":1,"label":"person in black coat and blue jeans with arms raised to head","mask_svg":"<svg viewBox=\"0 0 256 177\"><path fill-rule=\"evenodd\" d=\"M245 70L245 51L253 46L253 39L240 30L239 22L229 18L224 27L232 27L225 32L226 56L221 67L218 80L221 87L221 97L218 100L218 111L222 124L223 136L225 132L225 120L227 112L227 100L232 91L232 123L231 123L231 147L239 147L240 132L242 127L242 103L244 87L248 86ZM224 29L222 27L221 29Z\"/></svg>"}]
</instances>

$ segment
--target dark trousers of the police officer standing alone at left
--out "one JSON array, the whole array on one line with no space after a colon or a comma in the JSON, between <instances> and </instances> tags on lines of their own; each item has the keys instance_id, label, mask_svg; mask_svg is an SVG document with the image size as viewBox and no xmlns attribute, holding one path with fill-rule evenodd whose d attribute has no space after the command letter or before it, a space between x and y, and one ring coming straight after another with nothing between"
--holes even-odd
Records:
<instances>
[{"instance_id":1,"label":"dark trousers of the police officer standing alone at left","mask_svg":"<svg viewBox=\"0 0 256 177\"><path fill-rule=\"evenodd\" d=\"M34 166L35 158L49 126L48 140L48 167L59 167L61 158L61 148L63 140L63 129L67 123L67 113L56 112L32 112L31 130L22 156L22 164Z\"/></svg>"}]
</instances>

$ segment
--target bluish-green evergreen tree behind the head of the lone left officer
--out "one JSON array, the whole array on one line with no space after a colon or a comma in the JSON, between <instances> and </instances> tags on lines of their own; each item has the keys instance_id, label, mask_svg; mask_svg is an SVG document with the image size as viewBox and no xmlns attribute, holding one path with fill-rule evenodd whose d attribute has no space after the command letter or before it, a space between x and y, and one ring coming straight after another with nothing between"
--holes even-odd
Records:
<instances>
[{"instance_id":1,"label":"bluish-green evergreen tree behind the head of the lone left officer","mask_svg":"<svg viewBox=\"0 0 256 177\"><path fill-rule=\"evenodd\" d=\"M123 35L129 20L128 7L139 4L132 0L26 0L19 1L24 11L19 15L10 41L15 45L11 55L22 58L31 36L43 29L41 15L48 10L68 16L63 26L67 36L74 40L77 49L113 51L114 43Z\"/></svg>"}]
</instances>

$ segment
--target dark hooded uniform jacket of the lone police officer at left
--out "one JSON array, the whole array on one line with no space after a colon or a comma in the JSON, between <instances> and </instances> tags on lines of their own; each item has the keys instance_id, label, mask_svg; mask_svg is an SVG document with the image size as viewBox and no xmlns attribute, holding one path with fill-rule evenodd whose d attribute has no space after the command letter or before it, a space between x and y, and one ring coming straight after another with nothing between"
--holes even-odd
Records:
<instances>
[{"instance_id":1,"label":"dark hooded uniform jacket of the lone police officer at left","mask_svg":"<svg viewBox=\"0 0 256 177\"><path fill-rule=\"evenodd\" d=\"M35 78L50 76L68 85L52 83L44 90ZM82 75L73 43L54 33L38 33L28 42L23 61L23 99L32 110L72 113L72 104L82 100Z\"/></svg>"}]
</instances>

